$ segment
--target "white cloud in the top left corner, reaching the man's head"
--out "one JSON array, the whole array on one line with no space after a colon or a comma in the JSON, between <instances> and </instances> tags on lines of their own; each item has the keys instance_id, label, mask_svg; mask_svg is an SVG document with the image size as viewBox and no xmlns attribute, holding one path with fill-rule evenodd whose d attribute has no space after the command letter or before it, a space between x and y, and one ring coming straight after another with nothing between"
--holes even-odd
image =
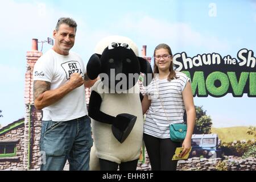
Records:
<instances>
[{"instance_id":1,"label":"white cloud in the top left corner, reaching the man's head","mask_svg":"<svg viewBox=\"0 0 256 182\"><path fill-rule=\"evenodd\" d=\"M57 19L68 14L46 3L11 0L1 2L0 16L0 38L5 43L0 48L29 49L32 38L38 38L39 41L51 38Z\"/></svg>"}]
</instances>

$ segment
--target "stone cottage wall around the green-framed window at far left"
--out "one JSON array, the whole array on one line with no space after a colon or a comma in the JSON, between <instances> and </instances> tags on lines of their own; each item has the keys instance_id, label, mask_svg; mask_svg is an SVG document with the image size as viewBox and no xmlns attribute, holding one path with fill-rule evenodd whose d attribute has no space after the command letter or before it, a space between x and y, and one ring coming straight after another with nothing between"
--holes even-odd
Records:
<instances>
[{"instance_id":1,"label":"stone cottage wall around the green-framed window at far left","mask_svg":"<svg viewBox=\"0 0 256 182\"><path fill-rule=\"evenodd\" d=\"M16 141L16 156L8 158L0 158L0 170L23 168L23 139L24 139L24 124L15 127L7 133L0 136L1 142Z\"/></svg>"}]
</instances>

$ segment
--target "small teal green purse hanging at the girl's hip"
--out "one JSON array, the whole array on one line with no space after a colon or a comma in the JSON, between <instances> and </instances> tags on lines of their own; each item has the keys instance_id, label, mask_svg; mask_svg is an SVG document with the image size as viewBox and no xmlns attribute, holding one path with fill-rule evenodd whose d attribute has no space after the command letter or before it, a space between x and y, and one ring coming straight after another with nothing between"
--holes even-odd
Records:
<instances>
[{"instance_id":1,"label":"small teal green purse hanging at the girl's hip","mask_svg":"<svg viewBox=\"0 0 256 182\"><path fill-rule=\"evenodd\" d=\"M187 134L187 125L184 123L176 123L170 125L170 138L174 142L181 142Z\"/></svg>"}]
</instances>

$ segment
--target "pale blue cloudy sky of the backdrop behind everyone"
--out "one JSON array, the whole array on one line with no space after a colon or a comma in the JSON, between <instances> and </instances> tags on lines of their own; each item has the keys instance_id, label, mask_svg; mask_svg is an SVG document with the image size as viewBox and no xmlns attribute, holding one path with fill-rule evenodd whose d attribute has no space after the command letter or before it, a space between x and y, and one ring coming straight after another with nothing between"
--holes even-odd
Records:
<instances>
[{"instance_id":1,"label":"pale blue cloudy sky of the backdrop behind everyone","mask_svg":"<svg viewBox=\"0 0 256 182\"><path fill-rule=\"evenodd\" d=\"M152 56L159 43L189 57L220 53L236 57L242 48L256 51L256 1L0 1L0 110L5 126L24 117L26 51L32 38L52 38L57 19L70 16L78 24L73 51L87 63L97 42L108 35L147 45ZM216 9L213 9L216 7ZM216 10L216 11L213 11ZM43 52L51 46L44 44ZM39 44L39 50L41 44ZM194 98L203 105L214 127L250 126L256 98Z\"/></svg>"}]
</instances>

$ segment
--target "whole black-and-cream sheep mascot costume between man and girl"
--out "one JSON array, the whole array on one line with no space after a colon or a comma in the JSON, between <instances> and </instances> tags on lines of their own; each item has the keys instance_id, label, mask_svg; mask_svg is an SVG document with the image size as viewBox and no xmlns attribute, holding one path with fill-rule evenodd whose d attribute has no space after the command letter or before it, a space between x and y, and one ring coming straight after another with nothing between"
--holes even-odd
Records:
<instances>
[{"instance_id":1,"label":"whole black-and-cream sheep mascot costume between man and girl","mask_svg":"<svg viewBox=\"0 0 256 182\"><path fill-rule=\"evenodd\" d=\"M138 57L138 47L123 36L109 36L96 46L86 66L94 80L88 113L92 118L94 147L90 169L136 170L142 146L143 114L138 77L144 85L152 78L150 63ZM142 99L142 98L141 98ZM96 154L97 158L95 158Z\"/></svg>"}]
</instances>

